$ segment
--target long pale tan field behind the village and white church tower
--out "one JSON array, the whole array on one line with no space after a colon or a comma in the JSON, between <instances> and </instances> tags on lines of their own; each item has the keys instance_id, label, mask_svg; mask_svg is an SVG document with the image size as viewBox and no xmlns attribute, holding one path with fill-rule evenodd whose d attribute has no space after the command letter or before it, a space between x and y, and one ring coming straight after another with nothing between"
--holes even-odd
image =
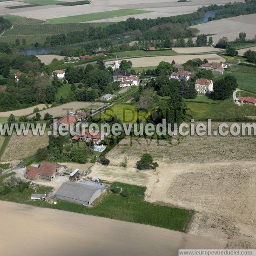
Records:
<instances>
[{"instance_id":1,"label":"long pale tan field behind the village and white church tower","mask_svg":"<svg viewBox=\"0 0 256 256\"><path fill-rule=\"evenodd\" d=\"M191 59L200 58L207 59L209 62L225 62L225 59L217 54L195 54L195 55L172 55L172 56L157 56L157 57L141 57L127 59L132 61L133 67L146 67L146 66L158 66L161 61L172 62L173 60L177 64L183 64ZM107 64L112 64L113 61L107 61Z\"/></svg>"}]
</instances>

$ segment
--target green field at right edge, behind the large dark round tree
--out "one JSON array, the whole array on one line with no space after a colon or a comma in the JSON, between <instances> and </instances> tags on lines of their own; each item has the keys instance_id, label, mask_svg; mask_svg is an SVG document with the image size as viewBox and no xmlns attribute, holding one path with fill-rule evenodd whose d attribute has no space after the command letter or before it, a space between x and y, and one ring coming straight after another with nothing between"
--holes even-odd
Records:
<instances>
[{"instance_id":1,"label":"green field at right edge, behind the large dark round tree","mask_svg":"<svg viewBox=\"0 0 256 256\"><path fill-rule=\"evenodd\" d=\"M231 66L225 74L234 75L240 89L256 93L256 67Z\"/></svg>"}]
</instances>

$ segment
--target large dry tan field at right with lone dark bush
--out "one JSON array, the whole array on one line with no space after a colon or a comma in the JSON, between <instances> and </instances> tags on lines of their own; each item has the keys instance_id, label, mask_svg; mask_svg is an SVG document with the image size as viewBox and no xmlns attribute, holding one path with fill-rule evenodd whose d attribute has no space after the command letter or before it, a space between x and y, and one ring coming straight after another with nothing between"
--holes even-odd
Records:
<instances>
[{"instance_id":1,"label":"large dry tan field at right with lone dark bush","mask_svg":"<svg viewBox=\"0 0 256 256\"><path fill-rule=\"evenodd\" d=\"M195 210L189 234L229 249L254 248L255 145L254 137L242 136L188 136L172 142L126 137L107 154L110 165L94 164L90 176L146 186L148 202ZM135 169L143 153L154 156L156 171ZM124 157L127 168L120 167Z\"/></svg>"}]
</instances>

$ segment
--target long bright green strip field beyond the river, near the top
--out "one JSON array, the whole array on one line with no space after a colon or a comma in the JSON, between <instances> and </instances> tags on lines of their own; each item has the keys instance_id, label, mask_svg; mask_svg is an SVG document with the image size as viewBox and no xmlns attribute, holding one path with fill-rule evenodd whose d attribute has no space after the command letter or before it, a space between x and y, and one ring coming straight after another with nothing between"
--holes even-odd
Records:
<instances>
[{"instance_id":1,"label":"long bright green strip field beyond the river, near the top","mask_svg":"<svg viewBox=\"0 0 256 256\"><path fill-rule=\"evenodd\" d=\"M125 15L132 15L132 14L140 14L140 13L150 13L150 11L142 11L142 10L135 10L135 9L121 9L121 10L114 10L108 12L101 12L101 13L88 13L88 14L81 14L69 17L62 17L62 18L55 18L47 20L49 24L61 24L61 23L79 23L91 20L101 20L106 18L115 18L121 17Z\"/></svg>"}]
</instances>

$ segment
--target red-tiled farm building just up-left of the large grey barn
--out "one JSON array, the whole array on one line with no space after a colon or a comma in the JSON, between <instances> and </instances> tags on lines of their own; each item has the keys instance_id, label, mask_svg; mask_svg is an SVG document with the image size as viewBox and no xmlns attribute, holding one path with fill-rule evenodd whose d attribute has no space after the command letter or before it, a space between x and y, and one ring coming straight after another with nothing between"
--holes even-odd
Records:
<instances>
[{"instance_id":1,"label":"red-tiled farm building just up-left of the large grey barn","mask_svg":"<svg viewBox=\"0 0 256 256\"><path fill-rule=\"evenodd\" d=\"M41 178L51 181L55 176L64 170L64 166L52 163L42 162L40 165L30 165L26 168L26 178L30 180L36 180Z\"/></svg>"}]
</instances>

